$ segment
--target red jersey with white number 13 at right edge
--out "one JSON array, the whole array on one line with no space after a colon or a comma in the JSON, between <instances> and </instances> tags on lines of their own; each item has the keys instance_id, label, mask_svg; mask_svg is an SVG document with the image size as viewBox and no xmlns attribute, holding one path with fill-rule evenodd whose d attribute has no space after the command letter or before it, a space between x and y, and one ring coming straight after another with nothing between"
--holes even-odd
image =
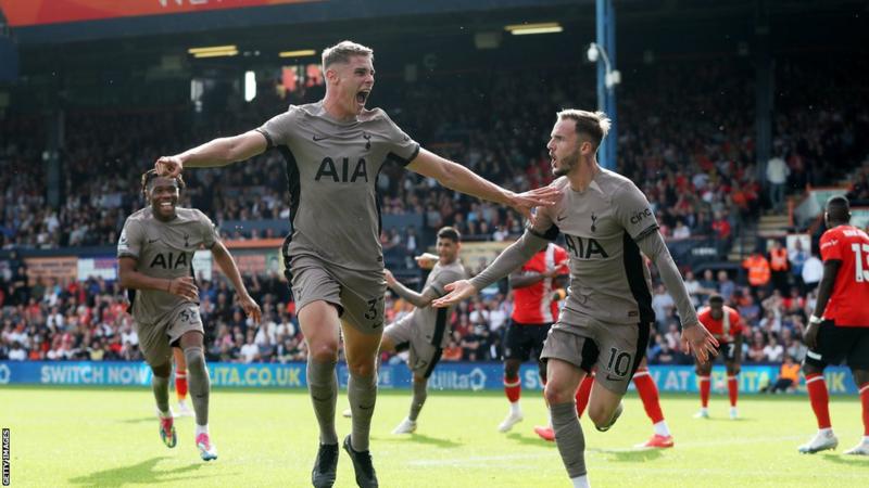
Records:
<instances>
[{"instance_id":1,"label":"red jersey with white number 13 at right edge","mask_svg":"<svg viewBox=\"0 0 869 488\"><path fill-rule=\"evenodd\" d=\"M842 261L823 318L843 328L869 328L869 236L853 226L821 235L821 259Z\"/></svg>"}]
</instances>

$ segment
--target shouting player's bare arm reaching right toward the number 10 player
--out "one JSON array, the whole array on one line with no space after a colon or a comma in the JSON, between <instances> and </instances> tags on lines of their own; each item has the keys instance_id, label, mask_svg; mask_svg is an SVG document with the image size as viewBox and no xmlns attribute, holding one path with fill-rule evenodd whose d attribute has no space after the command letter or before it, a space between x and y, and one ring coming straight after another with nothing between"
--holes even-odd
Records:
<instances>
[{"instance_id":1,"label":"shouting player's bare arm reaching right toward the number 10 player","mask_svg":"<svg viewBox=\"0 0 869 488\"><path fill-rule=\"evenodd\" d=\"M517 194L475 175L471 170L457 163L421 147L416 158L407 165L407 169L434 178L450 190L509 205L531 221L533 221L532 208L552 206L561 196L561 191L552 187L538 188Z\"/></svg>"}]
</instances>

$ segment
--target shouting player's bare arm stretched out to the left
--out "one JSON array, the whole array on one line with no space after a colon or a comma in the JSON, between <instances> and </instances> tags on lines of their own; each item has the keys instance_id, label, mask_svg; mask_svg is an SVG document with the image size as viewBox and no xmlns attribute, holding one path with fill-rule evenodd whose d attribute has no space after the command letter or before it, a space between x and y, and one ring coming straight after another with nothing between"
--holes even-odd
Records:
<instances>
[{"instance_id":1,"label":"shouting player's bare arm stretched out to the left","mask_svg":"<svg viewBox=\"0 0 869 488\"><path fill-rule=\"evenodd\" d=\"M161 175L178 176L185 167L207 168L249 159L268 149L266 137L249 130L229 138L217 138L174 156L162 156L154 163Z\"/></svg>"}]
</instances>

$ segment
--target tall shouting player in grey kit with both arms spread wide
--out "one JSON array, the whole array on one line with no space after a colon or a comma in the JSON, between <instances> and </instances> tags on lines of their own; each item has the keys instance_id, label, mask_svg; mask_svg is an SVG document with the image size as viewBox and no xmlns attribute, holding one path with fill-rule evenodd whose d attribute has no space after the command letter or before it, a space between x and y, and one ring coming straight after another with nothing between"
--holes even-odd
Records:
<instances>
[{"instance_id":1,"label":"tall shouting player in grey kit with both arms spread wide","mask_svg":"<svg viewBox=\"0 0 869 488\"><path fill-rule=\"evenodd\" d=\"M319 424L319 448L311 474L317 487L335 484L338 434L339 331L350 371L352 432L343 448L356 484L378 485L368 450L377 398L377 351L383 331L386 280L376 182L392 162L444 187L513 206L526 216L552 204L554 191L516 194L419 146L386 112L366 110L374 87L369 48L343 41L323 51L326 95L293 105L262 127L219 138L156 160L161 172L225 166L276 149L287 162L290 235L284 245L300 328L307 343L307 386Z\"/></svg>"}]
</instances>

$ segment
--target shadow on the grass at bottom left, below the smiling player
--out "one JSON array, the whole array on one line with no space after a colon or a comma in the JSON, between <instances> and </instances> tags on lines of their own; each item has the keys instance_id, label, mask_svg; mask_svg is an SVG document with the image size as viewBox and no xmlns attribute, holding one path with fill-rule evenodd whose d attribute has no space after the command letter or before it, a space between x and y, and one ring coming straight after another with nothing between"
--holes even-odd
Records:
<instances>
[{"instance_id":1,"label":"shadow on the grass at bottom left, below the smiling player","mask_svg":"<svg viewBox=\"0 0 869 488\"><path fill-rule=\"evenodd\" d=\"M112 467L98 471L85 476L70 478L70 483L86 487L121 487L124 485L155 485L159 483L182 481L188 479L201 479L202 476L184 476L187 473L198 471L203 463L188 464L187 466L174 470L161 471L156 464L167 459L165 455L151 458L130 466Z\"/></svg>"}]
</instances>

